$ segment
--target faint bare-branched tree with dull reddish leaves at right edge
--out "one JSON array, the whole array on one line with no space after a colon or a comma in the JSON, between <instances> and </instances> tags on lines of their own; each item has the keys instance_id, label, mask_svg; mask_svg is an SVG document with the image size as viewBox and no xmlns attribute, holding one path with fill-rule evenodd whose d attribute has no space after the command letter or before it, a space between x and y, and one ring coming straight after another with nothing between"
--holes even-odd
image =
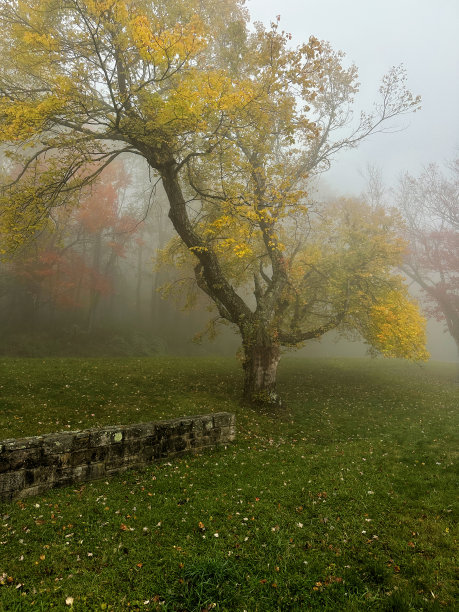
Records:
<instances>
[{"instance_id":1,"label":"faint bare-branched tree with dull reddish leaves at right edge","mask_svg":"<svg viewBox=\"0 0 459 612\"><path fill-rule=\"evenodd\" d=\"M459 160L405 174L396 200L410 248L403 271L421 287L427 312L443 321L459 354Z\"/></svg>"}]
</instances>

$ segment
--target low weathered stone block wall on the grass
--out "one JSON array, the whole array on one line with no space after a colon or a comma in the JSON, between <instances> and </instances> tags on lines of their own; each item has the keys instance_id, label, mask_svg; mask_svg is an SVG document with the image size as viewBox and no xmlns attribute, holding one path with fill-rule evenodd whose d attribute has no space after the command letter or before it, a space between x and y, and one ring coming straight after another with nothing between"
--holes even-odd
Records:
<instances>
[{"instance_id":1,"label":"low weathered stone block wall on the grass","mask_svg":"<svg viewBox=\"0 0 459 612\"><path fill-rule=\"evenodd\" d=\"M152 461L226 444L236 434L227 412L0 441L0 500L105 478Z\"/></svg>"}]
</instances>

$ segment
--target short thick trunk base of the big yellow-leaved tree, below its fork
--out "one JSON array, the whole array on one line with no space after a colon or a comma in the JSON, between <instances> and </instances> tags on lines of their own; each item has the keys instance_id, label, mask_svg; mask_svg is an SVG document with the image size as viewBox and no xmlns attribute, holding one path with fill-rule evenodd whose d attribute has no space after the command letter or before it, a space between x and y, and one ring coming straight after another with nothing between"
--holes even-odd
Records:
<instances>
[{"instance_id":1,"label":"short thick trunk base of the big yellow-leaved tree, below its fork","mask_svg":"<svg viewBox=\"0 0 459 612\"><path fill-rule=\"evenodd\" d=\"M276 393L280 347L274 343L244 342L244 401L256 405L280 406Z\"/></svg>"}]
</instances>

